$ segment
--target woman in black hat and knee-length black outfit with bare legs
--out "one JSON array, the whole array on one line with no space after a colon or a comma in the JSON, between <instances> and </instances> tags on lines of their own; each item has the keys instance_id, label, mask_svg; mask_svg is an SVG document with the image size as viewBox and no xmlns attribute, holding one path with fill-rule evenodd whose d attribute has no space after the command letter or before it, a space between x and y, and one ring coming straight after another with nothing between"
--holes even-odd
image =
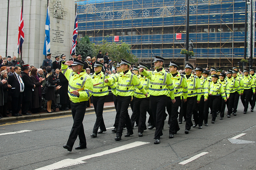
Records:
<instances>
[{"instance_id":1,"label":"woman in black hat and knee-length black outfit with bare legs","mask_svg":"<svg viewBox=\"0 0 256 170\"><path fill-rule=\"evenodd\" d=\"M45 85L45 88L47 88L45 93L45 100L47 101L47 112L52 113L51 105L52 105L52 100L55 100L55 87L57 83L54 77L52 76L52 73L53 73L52 68L51 67L46 68L46 72L47 72L46 82L48 81L49 86L46 87Z\"/></svg>"}]
</instances>

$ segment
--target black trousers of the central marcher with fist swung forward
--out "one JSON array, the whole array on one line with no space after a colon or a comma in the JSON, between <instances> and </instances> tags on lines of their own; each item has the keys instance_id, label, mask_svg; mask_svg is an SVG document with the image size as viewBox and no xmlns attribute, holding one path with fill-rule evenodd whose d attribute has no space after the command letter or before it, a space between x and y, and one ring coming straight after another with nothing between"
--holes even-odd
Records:
<instances>
[{"instance_id":1,"label":"black trousers of the central marcher with fist swung forward","mask_svg":"<svg viewBox=\"0 0 256 170\"><path fill-rule=\"evenodd\" d=\"M162 133L162 123L163 117L165 115L165 107L166 107L166 95L161 96L150 96L151 109L154 118L154 124L156 126L155 138L159 139Z\"/></svg>"}]
</instances>

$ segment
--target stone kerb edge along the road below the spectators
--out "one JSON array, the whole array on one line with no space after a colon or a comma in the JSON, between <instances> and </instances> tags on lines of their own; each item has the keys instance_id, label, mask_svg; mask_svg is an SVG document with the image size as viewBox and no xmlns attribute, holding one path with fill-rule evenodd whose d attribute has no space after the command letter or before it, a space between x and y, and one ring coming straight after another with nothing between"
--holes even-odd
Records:
<instances>
[{"instance_id":1,"label":"stone kerb edge along the road below the spectators","mask_svg":"<svg viewBox=\"0 0 256 170\"><path fill-rule=\"evenodd\" d=\"M106 106L103 108L103 110L108 110L108 109L114 109L115 106ZM86 109L86 112L91 112L94 111L94 108L88 108ZM27 119L34 119L34 118L46 118L46 117L52 117L52 116L58 116L58 115L64 115L64 114L71 114L71 110L67 111L56 111L52 113L39 113L39 114L32 114L32 115L23 115L23 116L18 116L18 117L4 117L0 119L1 122L11 122L11 121L17 121L17 120L27 120Z\"/></svg>"}]
</instances>

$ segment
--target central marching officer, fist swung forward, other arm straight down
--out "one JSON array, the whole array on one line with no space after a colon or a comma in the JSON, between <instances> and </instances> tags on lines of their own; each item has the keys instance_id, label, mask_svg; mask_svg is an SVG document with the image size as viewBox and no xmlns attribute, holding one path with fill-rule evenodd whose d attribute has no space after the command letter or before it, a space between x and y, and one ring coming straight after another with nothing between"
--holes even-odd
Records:
<instances>
[{"instance_id":1,"label":"central marching officer, fist swung forward, other arm straight down","mask_svg":"<svg viewBox=\"0 0 256 170\"><path fill-rule=\"evenodd\" d=\"M150 105L156 126L154 144L159 144L160 136L163 135L162 122L165 115L166 97L171 97L172 103L175 103L171 75L162 67L164 61L164 58L155 56L155 71L146 71L144 68L139 69L140 73L151 80L149 86Z\"/></svg>"}]
</instances>

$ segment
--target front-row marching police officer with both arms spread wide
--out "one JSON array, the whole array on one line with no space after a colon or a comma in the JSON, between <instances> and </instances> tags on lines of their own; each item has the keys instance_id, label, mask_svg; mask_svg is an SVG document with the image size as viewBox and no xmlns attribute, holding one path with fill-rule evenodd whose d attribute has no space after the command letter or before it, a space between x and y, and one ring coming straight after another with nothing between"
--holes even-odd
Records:
<instances>
[{"instance_id":1,"label":"front-row marching police officer with both arms spread wide","mask_svg":"<svg viewBox=\"0 0 256 170\"><path fill-rule=\"evenodd\" d=\"M143 88L138 77L131 73L129 66L131 63L122 59L120 67L123 72L119 73L118 76L114 75L108 79L105 79L105 83L113 86L115 82L117 83L116 94L117 94L117 110L120 111L119 124L117 128L117 133L115 140L121 140L123 129L126 125L127 134L125 137L129 137L133 134L131 127L131 120L128 114L128 107L131 101L131 96L134 95L134 86L136 86L143 95L147 97L147 92Z\"/></svg>"}]
</instances>

